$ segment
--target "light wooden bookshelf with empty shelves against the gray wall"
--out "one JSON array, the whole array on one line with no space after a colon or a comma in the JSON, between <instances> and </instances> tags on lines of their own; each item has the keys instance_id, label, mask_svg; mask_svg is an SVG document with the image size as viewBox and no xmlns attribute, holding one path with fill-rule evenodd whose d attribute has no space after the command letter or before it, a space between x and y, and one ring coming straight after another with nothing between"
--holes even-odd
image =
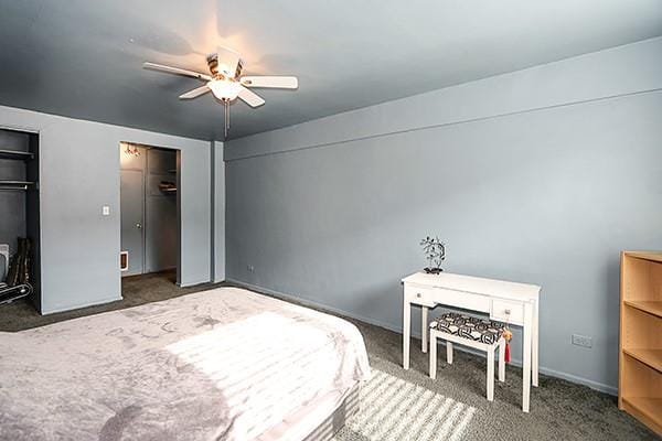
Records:
<instances>
[{"instance_id":1,"label":"light wooden bookshelf with empty shelves against the gray wall","mask_svg":"<svg viewBox=\"0 0 662 441\"><path fill-rule=\"evenodd\" d=\"M662 252L621 254L618 407L662 435Z\"/></svg>"}]
</instances>

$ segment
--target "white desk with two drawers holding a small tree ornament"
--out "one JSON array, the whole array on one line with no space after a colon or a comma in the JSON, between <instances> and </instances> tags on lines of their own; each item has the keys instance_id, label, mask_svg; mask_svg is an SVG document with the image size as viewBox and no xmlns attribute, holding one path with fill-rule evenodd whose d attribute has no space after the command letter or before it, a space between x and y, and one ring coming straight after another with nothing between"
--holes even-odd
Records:
<instances>
[{"instance_id":1,"label":"white desk with two drawers holding a small tree ornament","mask_svg":"<svg viewBox=\"0 0 662 441\"><path fill-rule=\"evenodd\" d=\"M428 346L428 309L437 305L490 314L490 319L522 326L522 410L528 411L531 384L538 384L538 302L541 287L478 277L417 272L403 279L403 367L409 368L412 304L423 309L423 352Z\"/></svg>"}]
</instances>

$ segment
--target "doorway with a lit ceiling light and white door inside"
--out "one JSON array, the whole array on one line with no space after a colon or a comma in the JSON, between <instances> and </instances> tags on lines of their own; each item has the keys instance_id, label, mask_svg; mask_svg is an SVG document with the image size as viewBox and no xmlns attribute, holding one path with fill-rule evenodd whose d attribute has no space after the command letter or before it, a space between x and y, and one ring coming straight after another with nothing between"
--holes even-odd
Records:
<instances>
[{"instance_id":1,"label":"doorway with a lit ceiling light and white door inside","mask_svg":"<svg viewBox=\"0 0 662 441\"><path fill-rule=\"evenodd\" d=\"M179 150L121 142L119 157L121 276L177 270Z\"/></svg>"}]
</instances>

